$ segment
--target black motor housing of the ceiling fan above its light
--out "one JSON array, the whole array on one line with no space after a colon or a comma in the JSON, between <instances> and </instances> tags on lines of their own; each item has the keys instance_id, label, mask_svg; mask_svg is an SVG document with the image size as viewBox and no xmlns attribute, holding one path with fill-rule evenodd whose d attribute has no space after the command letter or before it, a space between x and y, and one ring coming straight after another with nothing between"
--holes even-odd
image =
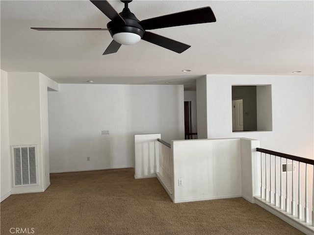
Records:
<instances>
[{"instance_id":1,"label":"black motor housing of the ceiling fan above its light","mask_svg":"<svg viewBox=\"0 0 314 235\"><path fill-rule=\"evenodd\" d=\"M141 38L143 37L145 30L140 24L138 24L139 20L133 13L131 13L129 8L124 8L123 11L119 13L119 15L125 20L126 24L115 20L110 21L107 24L107 28L109 29L111 37L113 37L113 35L116 33L122 32L135 33Z\"/></svg>"}]
</instances>

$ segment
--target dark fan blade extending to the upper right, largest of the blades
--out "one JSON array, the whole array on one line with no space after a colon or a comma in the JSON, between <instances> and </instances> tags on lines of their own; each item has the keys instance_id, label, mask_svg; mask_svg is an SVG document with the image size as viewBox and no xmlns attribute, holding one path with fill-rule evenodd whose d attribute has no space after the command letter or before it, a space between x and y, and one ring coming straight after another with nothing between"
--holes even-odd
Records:
<instances>
[{"instance_id":1,"label":"dark fan blade extending to the upper right, largest of the blades","mask_svg":"<svg viewBox=\"0 0 314 235\"><path fill-rule=\"evenodd\" d=\"M159 16L139 22L147 29L166 28L187 24L201 24L216 22L214 13L210 7L203 7L189 11L178 12L170 15Z\"/></svg>"}]
</instances>

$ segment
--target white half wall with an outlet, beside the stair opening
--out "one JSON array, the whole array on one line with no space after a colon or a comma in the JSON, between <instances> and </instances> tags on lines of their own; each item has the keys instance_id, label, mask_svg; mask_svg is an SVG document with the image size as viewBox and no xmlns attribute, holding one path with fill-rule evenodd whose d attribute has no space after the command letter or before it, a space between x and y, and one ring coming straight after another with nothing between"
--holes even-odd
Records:
<instances>
[{"instance_id":1,"label":"white half wall with an outlet, beside the stair opening","mask_svg":"<svg viewBox=\"0 0 314 235\"><path fill-rule=\"evenodd\" d=\"M175 203L242 195L240 139L172 141L171 149Z\"/></svg>"}]
</instances>

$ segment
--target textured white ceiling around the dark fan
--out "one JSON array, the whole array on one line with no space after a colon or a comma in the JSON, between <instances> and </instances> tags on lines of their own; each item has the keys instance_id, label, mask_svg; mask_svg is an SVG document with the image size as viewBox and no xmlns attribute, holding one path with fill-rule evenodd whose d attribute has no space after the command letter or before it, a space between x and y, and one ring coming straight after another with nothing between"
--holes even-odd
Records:
<instances>
[{"instance_id":1,"label":"textured white ceiling around the dark fan","mask_svg":"<svg viewBox=\"0 0 314 235\"><path fill-rule=\"evenodd\" d=\"M121 1L109 1L121 12ZM202 74L313 75L314 1L133 0L139 20L210 6L217 22L151 30L191 45L177 54L141 40L102 55L108 31L30 27L106 27L90 1L1 0L1 69L42 72L59 83L191 84ZM182 70L191 70L188 74Z\"/></svg>"}]
</instances>

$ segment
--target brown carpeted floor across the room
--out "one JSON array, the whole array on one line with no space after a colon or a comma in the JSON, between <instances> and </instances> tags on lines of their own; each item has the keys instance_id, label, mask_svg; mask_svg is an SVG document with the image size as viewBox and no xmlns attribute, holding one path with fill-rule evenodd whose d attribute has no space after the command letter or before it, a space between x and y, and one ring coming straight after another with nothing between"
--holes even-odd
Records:
<instances>
[{"instance_id":1,"label":"brown carpeted floor across the room","mask_svg":"<svg viewBox=\"0 0 314 235\"><path fill-rule=\"evenodd\" d=\"M156 178L133 175L132 168L51 174L45 192L1 203L1 235L10 228L34 235L302 234L243 198L174 204Z\"/></svg>"}]
</instances>

